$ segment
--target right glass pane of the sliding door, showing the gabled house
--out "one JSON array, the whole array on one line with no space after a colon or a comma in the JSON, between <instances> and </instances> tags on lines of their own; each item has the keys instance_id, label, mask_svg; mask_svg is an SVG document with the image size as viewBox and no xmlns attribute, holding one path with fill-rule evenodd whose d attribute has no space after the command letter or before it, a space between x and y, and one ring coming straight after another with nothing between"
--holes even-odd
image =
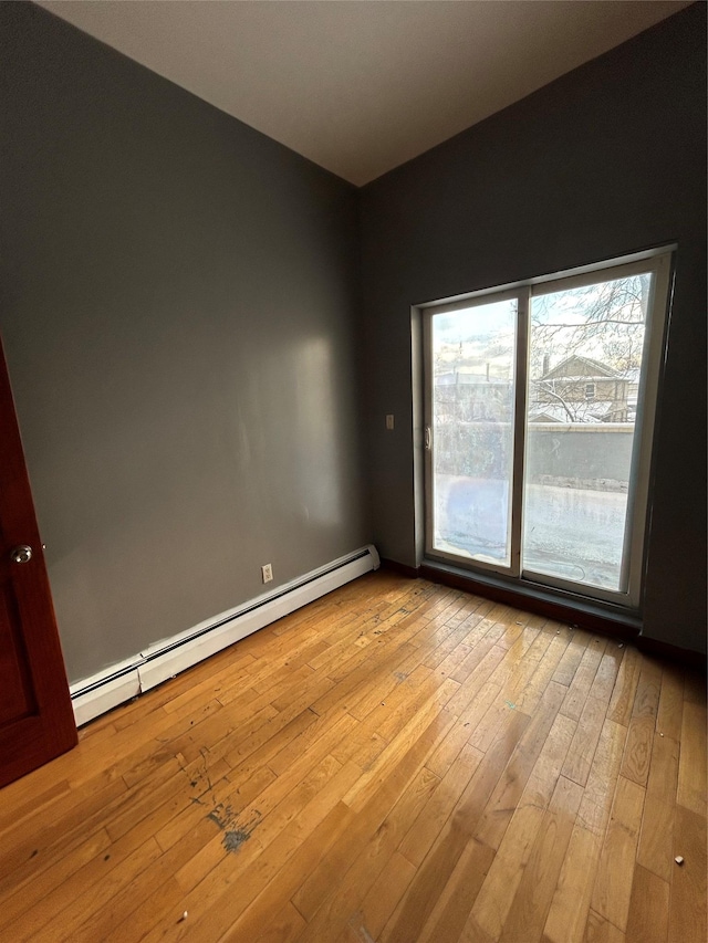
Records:
<instances>
[{"instance_id":1,"label":"right glass pane of the sliding door, showing the gabled house","mask_svg":"<svg viewBox=\"0 0 708 943\"><path fill-rule=\"evenodd\" d=\"M532 298L524 569L626 589L625 524L652 275Z\"/></svg>"}]
</instances>

